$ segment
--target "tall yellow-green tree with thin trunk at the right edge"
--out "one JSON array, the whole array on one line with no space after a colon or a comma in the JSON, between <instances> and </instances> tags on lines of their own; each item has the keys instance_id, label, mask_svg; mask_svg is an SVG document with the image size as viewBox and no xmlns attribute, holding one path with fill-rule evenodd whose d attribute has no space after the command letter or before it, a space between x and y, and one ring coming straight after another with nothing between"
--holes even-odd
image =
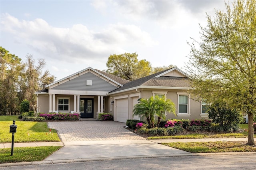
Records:
<instances>
[{"instance_id":1,"label":"tall yellow-green tree with thin trunk at the right edge","mask_svg":"<svg viewBox=\"0 0 256 170\"><path fill-rule=\"evenodd\" d=\"M200 42L190 44L192 90L208 103L222 99L228 106L248 114L248 144L254 145L256 114L256 0L237 0L233 10L216 11L200 26Z\"/></svg>"}]
</instances>

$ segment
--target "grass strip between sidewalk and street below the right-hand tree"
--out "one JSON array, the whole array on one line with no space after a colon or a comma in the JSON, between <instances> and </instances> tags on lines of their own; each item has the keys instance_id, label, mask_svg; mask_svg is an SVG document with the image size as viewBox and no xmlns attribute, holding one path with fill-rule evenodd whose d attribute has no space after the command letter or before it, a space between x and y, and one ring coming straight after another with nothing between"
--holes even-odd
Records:
<instances>
[{"instance_id":1,"label":"grass strip between sidewalk and street below the right-hand tree","mask_svg":"<svg viewBox=\"0 0 256 170\"><path fill-rule=\"evenodd\" d=\"M190 153L256 152L256 147L246 145L246 142L175 142L163 145Z\"/></svg>"}]
</instances>

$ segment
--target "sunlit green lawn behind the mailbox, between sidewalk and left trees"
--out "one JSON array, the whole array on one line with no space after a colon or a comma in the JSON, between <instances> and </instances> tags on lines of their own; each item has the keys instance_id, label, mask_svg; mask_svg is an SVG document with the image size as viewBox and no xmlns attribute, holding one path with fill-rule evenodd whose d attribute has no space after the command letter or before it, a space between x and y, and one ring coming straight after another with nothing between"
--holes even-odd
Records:
<instances>
[{"instance_id":1,"label":"sunlit green lawn behind the mailbox, between sidewalk and left trees","mask_svg":"<svg viewBox=\"0 0 256 170\"><path fill-rule=\"evenodd\" d=\"M14 142L59 142L60 138L56 130L47 127L46 122L26 122L18 120L18 116L0 116L0 143L11 143L12 133L10 125L16 119L17 132L14 135ZM7 121L6 121L7 120ZM11 120L11 121L10 121Z\"/></svg>"}]
</instances>

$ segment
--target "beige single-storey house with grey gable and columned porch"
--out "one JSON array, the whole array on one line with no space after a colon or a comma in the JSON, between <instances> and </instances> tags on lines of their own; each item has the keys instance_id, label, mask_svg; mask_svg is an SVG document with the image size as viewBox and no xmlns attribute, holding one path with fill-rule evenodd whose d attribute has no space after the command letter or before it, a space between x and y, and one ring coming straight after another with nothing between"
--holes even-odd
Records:
<instances>
[{"instance_id":1,"label":"beige single-storey house with grey gable and columned porch","mask_svg":"<svg viewBox=\"0 0 256 170\"><path fill-rule=\"evenodd\" d=\"M128 81L106 72L88 67L68 77L55 81L37 91L39 112L80 113L81 118L96 119L98 113L112 113L114 121L126 122L140 98L164 96L176 105L175 117L167 119L200 119L204 103L190 98L186 73L177 67Z\"/></svg>"}]
</instances>

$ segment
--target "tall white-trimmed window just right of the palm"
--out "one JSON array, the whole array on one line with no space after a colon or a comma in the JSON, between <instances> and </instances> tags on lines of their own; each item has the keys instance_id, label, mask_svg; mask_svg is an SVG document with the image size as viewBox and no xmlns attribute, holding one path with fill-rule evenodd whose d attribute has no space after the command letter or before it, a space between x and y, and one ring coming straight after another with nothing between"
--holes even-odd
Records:
<instances>
[{"instance_id":1,"label":"tall white-trimmed window just right of the palm","mask_svg":"<svg viewBox=\"0 0 256 170\"><path fill-rule=\"evenodd\" d=\"M190 100L189 95L186 93L177 92L178 95L178 114L177 116L190 116Z\"/></svg>"}]
</instances>

